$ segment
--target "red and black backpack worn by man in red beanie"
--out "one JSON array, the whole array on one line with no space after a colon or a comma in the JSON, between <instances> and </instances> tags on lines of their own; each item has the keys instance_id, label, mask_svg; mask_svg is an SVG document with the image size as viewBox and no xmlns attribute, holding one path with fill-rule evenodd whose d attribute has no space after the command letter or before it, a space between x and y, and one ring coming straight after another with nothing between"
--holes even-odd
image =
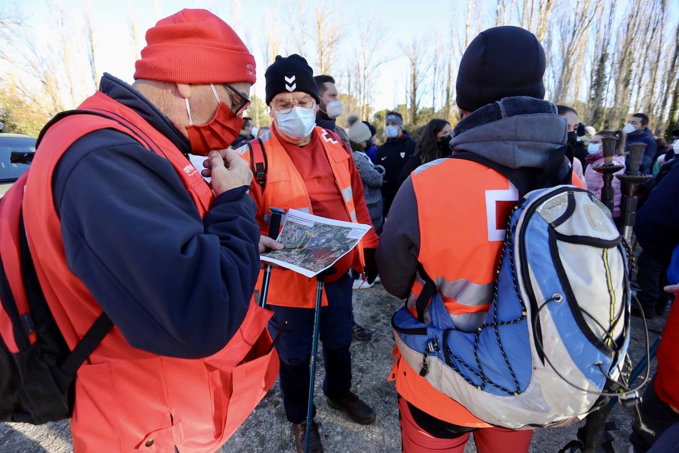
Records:
<instances>
[{"instance_id":1,"label":"red and black backpack worn by man in red beanie","mask_svg":"<svg viewBox=\"0 0 679 453\"><path fill-rule=\"evenodd\" d=\"M41 130L36 148L50 126L77 114L124 124L108 112L59 113ZM102 312L73 350L62 336L41 290L24 229L22 203L30 171L0 199L0 422L41 424L71 416L77 369L113 323Z\"/></svg>"}]
</instances>

